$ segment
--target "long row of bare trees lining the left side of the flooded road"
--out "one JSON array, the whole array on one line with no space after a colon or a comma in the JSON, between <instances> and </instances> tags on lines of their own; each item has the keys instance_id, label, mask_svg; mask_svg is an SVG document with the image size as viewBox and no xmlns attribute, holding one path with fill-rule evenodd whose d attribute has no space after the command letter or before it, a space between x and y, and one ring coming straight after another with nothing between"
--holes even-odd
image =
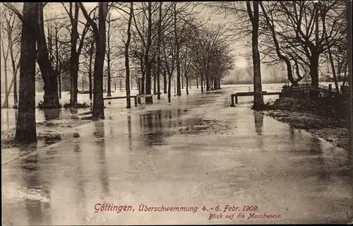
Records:
<instances>
[{"instance_id":1,"label":"long row of bare trees lining the left side of the flooded road","mask_svg":"<svg viewBox=\"0 0 353 226\"><path fill-rule=\"evenodd\" d=\"M181 78L185 78L187 93L191 78L201 81L203 92L204 84L206 90L220 88L222 76L232 69L229 42L222 37L224 28L221 25L205 25L198 20L195 16L197 6L191 3L102 2L90 11L80 2L61 4L67 15L59 18L61 22L58 22L58 18L44 20L46 5L25 2L20 12L15 5L5 4L6 11L16 15L22 26L18 29L20 89L16 139L19 142L37 141L36 63L44 82L43 105L50 108L60 107L59 91L63 73L70 74L70 105L74 107L77 104L78 71L86 71L90 90L93 90L92 119L104 119L104 64L110 95L109 83L114 57L124 59L125 62L128 108L131 107L131 69L138 69L141 75L142 94L151 94L152 80L155 81L158 99L162 77L169 102L174 73L177 78L177 95L181 95ZM110 12L119 16L112 18ZM82 16L85 22L82 22ZM112 25L114 21L119 21L118 25ZM114 48L119 51L114 52ZM16 80L15 75L14 78ZM150 97L146 97L146 102L151 101Z\"/></svg>"}]
</instances>

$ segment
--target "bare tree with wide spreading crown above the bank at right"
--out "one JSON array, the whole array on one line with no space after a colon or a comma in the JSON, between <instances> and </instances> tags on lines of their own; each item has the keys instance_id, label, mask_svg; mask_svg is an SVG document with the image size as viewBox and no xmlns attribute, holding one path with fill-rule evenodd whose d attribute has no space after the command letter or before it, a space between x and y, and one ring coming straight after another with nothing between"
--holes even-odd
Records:
<instances>
[{"instance_id":1,"label":"bare tree with wide spreading crown above the bank at right","mask_svg":"<svg viewBox=\"0 0 353 226\"><path fill-rule=\"evenodd\" d=\"M280 1L275 4L277 35L282 50L309 68L311 84L318 85L320 57L342 40L343 3L340 1Z\"/></svg>"}]
</instances>

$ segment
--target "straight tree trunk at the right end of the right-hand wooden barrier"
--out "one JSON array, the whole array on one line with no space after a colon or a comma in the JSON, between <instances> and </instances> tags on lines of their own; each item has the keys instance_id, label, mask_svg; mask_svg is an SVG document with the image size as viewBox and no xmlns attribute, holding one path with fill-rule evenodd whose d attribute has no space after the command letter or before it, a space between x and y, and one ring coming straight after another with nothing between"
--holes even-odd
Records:
<instances>
[{"instance_id":1,"label":"straight tree trunk at the right end of the right-hand wooden barrier","mask_svg":"<svg viewBox=\"0 0 353 226\"><path fill-rule=\"evenodd\" d=\"M246 2L249 16L251 18L252 29L252 49L253 49L253 109L263 109L263 94L261 85L261 59L258 52L258 1L253 1L253 13L251 12L250 2Z\"/></svg>"}]
</instances>

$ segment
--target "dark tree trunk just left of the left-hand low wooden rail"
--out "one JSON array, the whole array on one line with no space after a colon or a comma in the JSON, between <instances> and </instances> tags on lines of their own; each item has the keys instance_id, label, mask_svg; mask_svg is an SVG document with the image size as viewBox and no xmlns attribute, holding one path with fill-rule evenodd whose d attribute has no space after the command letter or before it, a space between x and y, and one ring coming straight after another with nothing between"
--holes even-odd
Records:
<instances>
[{"instance_id":1,"label":"dark tree trunk just left of the left-hand low wooden rail","mask_svg":"<svg viewBox=\"0 0 353 226\"><path fill-rule=\"evenodd\" d=\"M99 3L98 32L95 32L95 77L93 92L93 112L92 119L104 119L104 100L103 100L103 66L105 57L105 19L107 16L107 2Z\"/></svg>"}]
</instances>

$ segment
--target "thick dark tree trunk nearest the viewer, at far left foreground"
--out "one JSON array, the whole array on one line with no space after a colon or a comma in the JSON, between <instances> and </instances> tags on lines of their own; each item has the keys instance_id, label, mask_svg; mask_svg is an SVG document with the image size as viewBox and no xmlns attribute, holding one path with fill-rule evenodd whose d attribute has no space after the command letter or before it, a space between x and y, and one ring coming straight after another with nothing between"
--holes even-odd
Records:
<instances>
[{"instance_id":1,"label":"thick dark tree trunk nearest the viewer, at far left foreground","mask_svg":"<svg viewBox=\"0 0 353 226\"><path fill-rule=\"evenodd\" d=\"M23 25L20 46L20 92L16 141L19 143L37 142L35 122L35 56L37 36L37 3L24 2Z\"/></svg>"}]
</instances>

